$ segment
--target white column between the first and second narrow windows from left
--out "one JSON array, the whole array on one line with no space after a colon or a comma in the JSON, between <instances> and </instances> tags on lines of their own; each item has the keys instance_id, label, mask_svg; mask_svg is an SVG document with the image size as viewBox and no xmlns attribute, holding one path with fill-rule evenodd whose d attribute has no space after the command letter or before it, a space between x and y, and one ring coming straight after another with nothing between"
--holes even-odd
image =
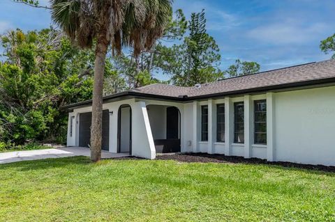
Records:
<instances>
[{"instance_id":1,"label":"white column between the first and second narrow windows from left","mask_svg":"<svg viewBox=\"0 0 335 222\"><path fill-rule=\"evenodd\" d=\"M213 100L208 100L208 153L214 153L214 141L216 141L216 106Z\"/></svg>"}]
</instances>

